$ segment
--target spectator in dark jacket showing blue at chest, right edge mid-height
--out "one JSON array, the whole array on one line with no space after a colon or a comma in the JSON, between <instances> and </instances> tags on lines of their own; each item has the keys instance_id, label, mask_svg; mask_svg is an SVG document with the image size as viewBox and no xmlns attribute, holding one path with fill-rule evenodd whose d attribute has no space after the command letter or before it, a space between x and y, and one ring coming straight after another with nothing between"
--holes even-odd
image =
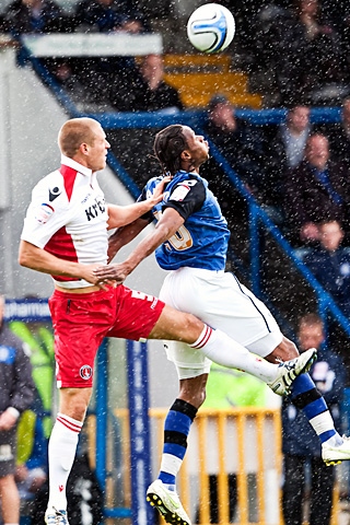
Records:
<instances>
[{"instance_id":1,"label":"spectator in dark jacket showing blue at chest, right edge mid-height","mask_svg":"<svg viewBox=\"0 0 350 525\"><path fill-rule=\"evenodd\" d=\"M317 223L326 219L339 220L347 231L348 186L349 166L330 159L327 137L311 135L304 160L284 177L283 209L292 244L317 242Z\"/></svg>"}]
</instances>

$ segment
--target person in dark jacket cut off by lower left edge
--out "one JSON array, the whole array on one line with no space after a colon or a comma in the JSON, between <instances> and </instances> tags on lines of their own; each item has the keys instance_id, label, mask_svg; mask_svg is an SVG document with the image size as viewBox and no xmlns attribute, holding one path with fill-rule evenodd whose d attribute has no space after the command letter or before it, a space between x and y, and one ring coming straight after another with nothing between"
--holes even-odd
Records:
<instances>
[{"instance_id":1,"label":"person in dark jacket cut off by lower left edge","mask_svg":"<svg viewBox=\"0 0 350 525\"><path fill-rule=\"evenodd\" d=\"M32 366L25 347L3 322L0 295L0 499L4 525L19 525L20 495L14 481L16 427L34 398Z\"/></svg>"}]
</instances>

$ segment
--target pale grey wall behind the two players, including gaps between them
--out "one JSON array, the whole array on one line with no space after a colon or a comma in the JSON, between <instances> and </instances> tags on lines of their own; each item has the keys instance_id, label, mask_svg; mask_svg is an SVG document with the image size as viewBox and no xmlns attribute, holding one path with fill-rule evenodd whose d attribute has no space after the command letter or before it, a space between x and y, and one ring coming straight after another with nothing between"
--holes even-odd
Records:
<instances>
[{"instance_id":1,"label":"pale grey wall behind the two players, including gaps between them","mask_svg":"<svg viewBox=\"0 0 350 525\"><path fill-rule=\"evenodd\" d=\"M8 298L48 298L51 278L20 267L16 258L31 190L58 167L57 132L68 116L30 67L15 66L11 49L0 51L0 291ZM110 201L132 202L109 168L100 174L100 184ZM118 258L122 260L129 249L124 248ZM158 294L164 275L151 256L128 278L127 285ZM150 384L151 405L170 405L177 378L161 342L150 343Z\"/></svg>"}]
</instances>

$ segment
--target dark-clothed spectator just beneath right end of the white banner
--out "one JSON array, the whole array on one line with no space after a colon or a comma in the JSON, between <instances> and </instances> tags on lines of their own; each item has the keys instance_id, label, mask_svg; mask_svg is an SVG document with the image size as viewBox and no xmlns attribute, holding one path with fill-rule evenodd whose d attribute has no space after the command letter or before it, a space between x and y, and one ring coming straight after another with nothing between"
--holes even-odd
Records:
<instances>
[{"instance_id":1,"label":"dark-clothed spectator just beneath right end of the white banner","mask_svg":"<svg viewBox=\"0 0 350 525\"><path fill-rule=\"evenodd\" d=\"M132 74L119 75L112 89L110 102L120 112L166 112L184 109L177 90L164 81L161 55L147 55Z\"/></svg>"}]
</instances>

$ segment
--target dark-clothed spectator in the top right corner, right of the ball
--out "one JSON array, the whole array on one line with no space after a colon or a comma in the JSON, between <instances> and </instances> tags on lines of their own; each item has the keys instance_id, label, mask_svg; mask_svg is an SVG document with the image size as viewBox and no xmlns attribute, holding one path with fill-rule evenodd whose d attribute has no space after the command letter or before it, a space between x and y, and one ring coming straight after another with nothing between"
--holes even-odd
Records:
<instances>
[{"instance_id":1,"label":"dark-clothed spectator in the top right corner, right of the ball","mask_svg":"<svg viewBox=\"0 0 350 525\"><path fill-rule=\"evenodd\" d=\"M257 48L267 48L281 105L332 102L342 96L345 57L340 37L322 14L319 0L296 0L270 22L260 23Z\"/></svg>"}]
</instances>

